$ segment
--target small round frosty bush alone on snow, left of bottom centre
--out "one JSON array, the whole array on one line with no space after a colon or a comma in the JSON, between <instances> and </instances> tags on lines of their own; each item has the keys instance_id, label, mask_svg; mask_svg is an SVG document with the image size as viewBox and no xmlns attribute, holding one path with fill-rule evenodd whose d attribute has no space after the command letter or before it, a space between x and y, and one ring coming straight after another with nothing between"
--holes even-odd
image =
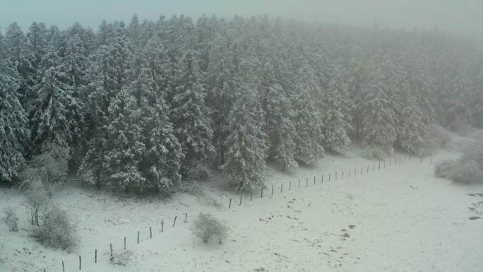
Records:
<instances>
[{"instance_id":1,"label":"small round frosty bush alone on snow, left of bottom centre","mask_svg":"<svg viewBox=\"0 0 483 272\"><path fill-rule=\"evenodd\" d=\"M200 213L191 230L193 235L201 238L203 242L208 242L211 238L216 237L221 244L222 240L228 236L229 227L210 213Z\"/></svg>"}]
</instances>

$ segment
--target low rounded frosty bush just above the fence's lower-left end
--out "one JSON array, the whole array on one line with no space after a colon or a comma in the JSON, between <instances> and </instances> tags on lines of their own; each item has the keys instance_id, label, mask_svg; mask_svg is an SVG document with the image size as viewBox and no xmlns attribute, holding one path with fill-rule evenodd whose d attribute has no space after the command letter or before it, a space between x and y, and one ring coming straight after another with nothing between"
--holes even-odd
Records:
<instances>
[{"instance_id":1,"label":"low rounded frosty bush just above the fence's lower-left end","mask_svg":"<svg viewBox=\"0 0 483 272\"><path fill-rule=\"evenodd\" d=\"M43 224L34 230L33 236L45 247L70 251L77 245L76 227L66 211L51 206L45 211Z\"/></svg>"}]
</instances>

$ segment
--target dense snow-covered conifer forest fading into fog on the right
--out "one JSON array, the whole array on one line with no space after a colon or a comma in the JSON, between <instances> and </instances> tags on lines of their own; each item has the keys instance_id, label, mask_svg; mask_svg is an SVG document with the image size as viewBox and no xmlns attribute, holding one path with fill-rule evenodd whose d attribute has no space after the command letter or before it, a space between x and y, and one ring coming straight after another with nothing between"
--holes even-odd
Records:
<instances>
[{"instance_id":1,"label":"dense snow-covered conifer forest fading into fog on the right","mask_svg":"<svg viewBox=\"0 0 483 272\"><path fill-rule=\"evenodd\" d=\"M479 47L480 46L480 47ZM480 49L479 49L480 48ZM361 141L421 153L429 124L483 126L481 45L444 32L202 16L16 23L0 35L0 175L68 150L97 186L160 190L220 165L238 189Z\"/></svg>"}]
</instances>

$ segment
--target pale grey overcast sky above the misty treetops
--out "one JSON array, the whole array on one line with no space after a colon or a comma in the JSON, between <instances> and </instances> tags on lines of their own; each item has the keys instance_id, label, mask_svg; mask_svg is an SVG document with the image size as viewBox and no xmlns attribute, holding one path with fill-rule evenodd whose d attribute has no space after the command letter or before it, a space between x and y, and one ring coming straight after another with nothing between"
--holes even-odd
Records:
<instances>
[{"instance_id":1,"label":"pale grey overcast sky above the misty treetops","mask_svg":"<svg viewBox=\"0 0 483 272\"><path fill-rule=\"evenodd\" d=\"M102 20L203 13L232 17L268 14L323 23L381 27L440 28L456 35L483 37L483 0L0 0L0 27L32 21L66 28L72 23L97 30Z\"/></svg>"}]
</instances>

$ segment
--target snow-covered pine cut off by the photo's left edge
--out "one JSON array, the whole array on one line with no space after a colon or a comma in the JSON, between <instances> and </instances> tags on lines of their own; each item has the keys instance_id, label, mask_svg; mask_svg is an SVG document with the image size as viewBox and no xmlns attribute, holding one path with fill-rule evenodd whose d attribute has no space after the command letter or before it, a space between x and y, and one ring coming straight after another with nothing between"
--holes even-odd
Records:
<instances>
[{"instance_id":1,"label":"snow-covered pine cut off by the photo's left edge","mask_svg":"<svg viewBox=\"0 0 483 272\"><path fill-rule=\"evenodd\" d=\"M28 118L17 90L19 75L11 64L0 59L0 180L11 182L25 160L28 146Z\"/></svg>"}]
</instances>

